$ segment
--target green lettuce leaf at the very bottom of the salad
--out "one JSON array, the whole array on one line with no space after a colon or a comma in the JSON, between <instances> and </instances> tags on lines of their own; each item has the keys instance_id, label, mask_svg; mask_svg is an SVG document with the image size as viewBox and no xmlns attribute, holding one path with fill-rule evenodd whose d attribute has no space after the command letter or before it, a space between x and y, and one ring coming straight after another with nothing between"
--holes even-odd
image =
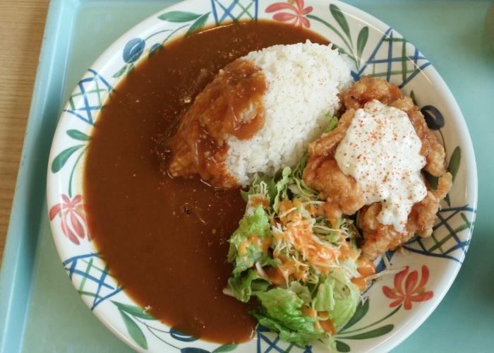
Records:
<instances>
[{"instance_id":1,"label":"green lettuce leaf at the very bottom of the salad","mask_svg":"<svg viewBox=\"0 0 494 353\"><path fill-rule=\"evenodd\" d=\"M257 294L261 309L252 315L266 328L279 333L279 337L299 346L325 337L322 328L315 328L318 318L301 311L303 299L291 289L275 288Z\"/></svg>"}]
</instances>

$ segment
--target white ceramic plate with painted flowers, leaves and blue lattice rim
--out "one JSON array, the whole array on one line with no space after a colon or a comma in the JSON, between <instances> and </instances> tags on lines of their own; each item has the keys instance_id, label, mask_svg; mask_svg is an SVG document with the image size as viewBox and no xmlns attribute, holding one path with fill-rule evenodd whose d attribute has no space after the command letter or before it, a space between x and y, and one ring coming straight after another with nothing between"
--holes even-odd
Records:
<instances>
[{"instance_id":1,"label":"white ceramic plate with painted flowers, leaves and blue lattice rim","mask_svg":"<svg viewBox=\"0 0 494 353\"><path fill-rule=\"evenodd\" d=\"M392 4L390 4L392 6ZM85 151L109 92L140 60L169 40L231 20L273 20L310 28L349 55L351 75L390 80L416 100L445 145L454 178L432 237L385 254L399 273L376 281L337 334L339 352L383 352L410 335L438 306L469 246L477 200L474 151L462 112L435 68L394 28L339 1L189 0L159 11L116 40L73 91L49 157L47 198L53 237L68 277L90 310L133 349L149 352L318 352L292 347L258 327L253 340L219 345L167 327L136 306L109 275L88 232L82 188ZM378 270L384 261L378 262Z\"/></svg>"}]
</instances>

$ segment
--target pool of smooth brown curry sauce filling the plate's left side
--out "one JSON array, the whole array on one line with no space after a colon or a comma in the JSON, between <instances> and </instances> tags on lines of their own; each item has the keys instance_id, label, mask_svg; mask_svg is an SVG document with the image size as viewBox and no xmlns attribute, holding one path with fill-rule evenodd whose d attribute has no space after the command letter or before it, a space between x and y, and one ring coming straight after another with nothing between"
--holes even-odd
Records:
<instances>
[{"instance_id":1,"label":"pool of smooth brown curry sauce filling the plate's left side","mask_svg":"<svg viewBox=\"0 0 494 353\"><path fill-rule=\"evenodd\" d=\"M179 330L215 342L248 340L249 306L227 297L227 239L245 204L238 189L162 174L156 140L171 136L212 77L234 59L313 32L237 23L167 44L119 83L90 141L84 197L90 232L109 272L135 302ZM251 306L252 308L252 306Z\"/></svg>"}]
</instances>

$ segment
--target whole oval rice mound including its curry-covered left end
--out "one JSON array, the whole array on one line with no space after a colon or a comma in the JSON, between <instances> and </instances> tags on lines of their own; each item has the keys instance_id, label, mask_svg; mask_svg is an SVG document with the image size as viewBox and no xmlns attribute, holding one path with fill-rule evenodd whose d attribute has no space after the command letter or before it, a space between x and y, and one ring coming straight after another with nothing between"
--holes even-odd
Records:
<instances>
[{"instance_id":1,"label":"whole oval rice mound including its curry-covered left end","mask_svg":"<svg viewBox=\"0 0 494 353\"><path fill-rule=\"evenodd\" d=\"M173 177L215 186L251 184L293 167L323 132L351 81L336 49L307 41L231 62L199 93L169 143Z\"/></svg>"}]
</instances>

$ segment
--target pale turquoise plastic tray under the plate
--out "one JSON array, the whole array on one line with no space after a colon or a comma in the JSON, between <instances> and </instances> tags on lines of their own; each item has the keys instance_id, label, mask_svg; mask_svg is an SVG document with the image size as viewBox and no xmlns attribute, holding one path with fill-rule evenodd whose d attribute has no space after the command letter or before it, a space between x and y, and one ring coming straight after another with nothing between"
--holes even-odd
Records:
<instances>
[{"instance_id":1,"label":"pale turquoise plastic tray under the plate","mask_svg":"<svg viewBox=\"0 0 494 353\"><path fill-rule=\"evenodd\" d=\"M206 1L206 0L204 0ZM0 273L0 353L128 352L87 309L56 254L45 176L71 90L119 35L173 0L52 0ZM399 30L450 86L478 164L478 215L466 261L438 309L394 352L493 352L494 48L490 1L347 1Z\"/></svg>"}]
</instances>

